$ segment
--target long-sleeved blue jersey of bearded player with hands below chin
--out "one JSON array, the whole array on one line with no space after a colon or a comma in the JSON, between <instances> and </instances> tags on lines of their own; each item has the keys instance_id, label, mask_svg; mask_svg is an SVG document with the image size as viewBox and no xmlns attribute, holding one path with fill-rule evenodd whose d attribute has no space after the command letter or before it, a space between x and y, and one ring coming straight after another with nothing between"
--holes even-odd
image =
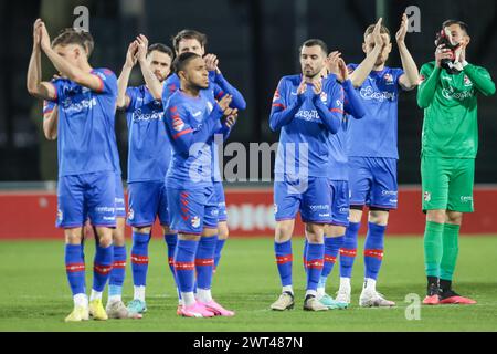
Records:
<instances>
[{"instance_id":1,"label":"long-sleeved blue jersey of bearded player with hands below chin","mask_svg":"<svg viewBox=\"0 0 497 354\"><path fill-rule=\"evenodd\" d=\"M275 177L329 177L331 136L343 118L343 88L335 80L322 81L322 93L311 85L297 95L302 75L285 76L273 100L269 125L282 129Z\"/></svg>"}]
</instances>

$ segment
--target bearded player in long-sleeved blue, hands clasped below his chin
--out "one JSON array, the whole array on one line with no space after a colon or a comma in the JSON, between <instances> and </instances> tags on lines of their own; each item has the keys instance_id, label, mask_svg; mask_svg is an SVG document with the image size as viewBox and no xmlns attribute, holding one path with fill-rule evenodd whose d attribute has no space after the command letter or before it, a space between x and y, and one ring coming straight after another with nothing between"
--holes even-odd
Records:
<instances>
[{"instance_id":1,"label":"bearded player in long-sleeved blue, hands clasped below his chin","mask_svg":"<svg viewBox=\"0 0 497 354\"><path fill-rule=\"evenodd\" d=\"M302 74L281 80L269 117L281 131L275 166L275 253L282 295L275 311L294 306L292 235L300 211L305 222L307 287L304 310L326 311L317 299L325 258L325 225L331 220L329 187L330 138L343 116L343 90L335 80L322 80L327 45L308 40L300 48ZM325 168L324 168L325 167Z\"/></svg>"}]
</instances>

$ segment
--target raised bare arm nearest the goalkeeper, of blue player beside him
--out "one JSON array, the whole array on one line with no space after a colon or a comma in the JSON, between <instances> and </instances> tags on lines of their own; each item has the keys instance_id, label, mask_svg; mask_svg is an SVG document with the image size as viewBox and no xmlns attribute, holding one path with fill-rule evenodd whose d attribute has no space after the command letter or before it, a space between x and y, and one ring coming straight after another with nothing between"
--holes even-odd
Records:
<instances>
[{"instance_id":1,"label":"raised bare arm nearest the goalkeeper, of blue player beside him","mask_svg":"<svg viewBox=\"0 0 497 354\"><path fill-rule=\"evenodd\" d=\"M395 34L396 45L399 46L399 53L402 60L402 69L404 74L399 77L399 83L403 90L414 90L420 83L420 72L417 65L414 62L411 53L405 45L405 34L408 33L408 15L402 15L402 23L399 31Z\"/></svg>"}]
</instances>

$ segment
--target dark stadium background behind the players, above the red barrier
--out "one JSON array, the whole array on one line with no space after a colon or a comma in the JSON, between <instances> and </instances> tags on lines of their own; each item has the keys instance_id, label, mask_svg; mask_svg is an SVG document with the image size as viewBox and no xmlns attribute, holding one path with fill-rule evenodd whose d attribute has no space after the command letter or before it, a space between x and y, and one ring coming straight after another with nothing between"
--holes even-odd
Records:
<instances>
[{"instance_id":1,"label":"dark stadium background behind the players, above the red barrier","mask_svg":"<svg viewBox=\"0 0 497 354\"><path fill-rule=\"evenodd\" d=\"M321 38L330 49L343 53L347 62L363 59L364 28L377 14L396 32L403 10L421 8L421 33L409 33L408 46L416 63L433 60L434 35L443 20L464 20L470 27L468 59L497 77L496 2L477 1L319 1L319 0L43 0L0 1L0 181L56 180L56 144L41 133L41 103L28 95L25 73L32 48L32 23L42 17L52 37L71 27L76 6L91 11L91 31L96 40L94 66L119 74L128 43L138 33L150 42L165 42L183 28L209 34L208 52L219 55L225 76L246 97L248 108L241 115L231 140L276 142L268 128L268 112L281 76L298 71L297 48L307 38ZM400 65L394 45L390 65ZM54 73L44 62L44 79ZM131 84L140 84L139 71ZM403 94L399 104L399 180L419 184L422 111L415 92ZM479 100L480 147L476 181L497 181L497 100ZM126 178L127 129L117 118L117 136Z\"/></svg>"}]
</instances>

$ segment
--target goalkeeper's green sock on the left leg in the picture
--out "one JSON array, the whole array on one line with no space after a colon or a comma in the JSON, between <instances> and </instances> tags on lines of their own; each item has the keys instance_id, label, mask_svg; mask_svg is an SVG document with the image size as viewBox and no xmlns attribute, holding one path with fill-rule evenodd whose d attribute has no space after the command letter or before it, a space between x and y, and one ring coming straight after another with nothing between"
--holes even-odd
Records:
<instances>
[{"instance_id":1,"label":"goalkeeper's green sock on the left leg in the picture","mask_svg":"<svg viewBox=\"0 0 497 354\"><path fill-rule=\"evenodd\" d=\"M440 278L443 233L443 223L426 221L426 229L424 231L424 268L427 277Z\"/></svg>"}]
</instances>

